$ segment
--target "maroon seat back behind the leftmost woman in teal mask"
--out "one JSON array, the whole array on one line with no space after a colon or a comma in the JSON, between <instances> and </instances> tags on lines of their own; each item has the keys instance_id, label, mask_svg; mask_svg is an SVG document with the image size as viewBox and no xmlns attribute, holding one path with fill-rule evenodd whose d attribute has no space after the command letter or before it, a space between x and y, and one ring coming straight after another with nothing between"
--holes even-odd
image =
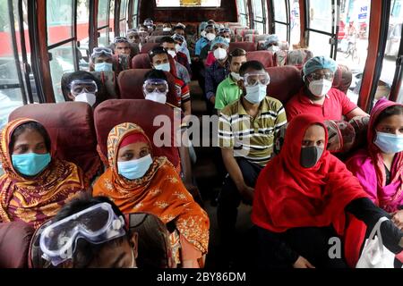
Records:
<instances>
[{"instance_id":1,"label":"maroon seat back behind the leftmost woman in teal mask","mask_svg":"<svg viewBox=\"0 0 403 286\"><path fill-rule=\"evenodd\" d=\"M82 102L24 105L15 109L9 120L21 117L43 124L49 133L53 153L80 166L87 178L91 180L102 171L90 105Z\"/></svg>"}]
</instances>

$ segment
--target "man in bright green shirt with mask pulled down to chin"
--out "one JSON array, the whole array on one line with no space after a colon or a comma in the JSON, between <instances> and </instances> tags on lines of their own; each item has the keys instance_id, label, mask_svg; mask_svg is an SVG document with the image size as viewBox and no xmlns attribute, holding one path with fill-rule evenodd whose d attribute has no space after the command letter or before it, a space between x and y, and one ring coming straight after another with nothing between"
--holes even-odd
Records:
<instances>
[{"instance_id":1,"label":"man in bright green shirt with mask pulled down to chin","mask_svg":"<svg viewBox=\"0 0 403 286\"><path fill-rule=\"evenodd\" d=\"M242 48L236 48L229 54L228 63L231 73L226 80L221 81L216 92L215 108L218 112L241 97L242 90L237 83L241 80L239 69L246 61L246 51Z\"/></svg>"}]
</instances>

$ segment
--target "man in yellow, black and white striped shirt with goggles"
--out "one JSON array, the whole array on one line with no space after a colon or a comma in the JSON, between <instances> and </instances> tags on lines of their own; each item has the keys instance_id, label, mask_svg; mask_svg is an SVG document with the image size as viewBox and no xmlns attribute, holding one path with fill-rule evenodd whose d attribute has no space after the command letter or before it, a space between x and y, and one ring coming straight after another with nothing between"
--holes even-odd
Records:
<instances>
[{"instance_id":1,"label":"man in yellow, black and white striped shirt with goggles","mask_svg":"<svg viewBox=\"0 0 403 286\"><path fill-rule=\"evenodd\" d=\"M237 207L241 200L252 205L254 184L273 153L274 135L287 123L283 105L267 97L270 76L262 63L246 62L239 74L242 96L219 114L219 147L228 175L217 212L227 248L235 234Z\"/></svg>"}]
</instances>

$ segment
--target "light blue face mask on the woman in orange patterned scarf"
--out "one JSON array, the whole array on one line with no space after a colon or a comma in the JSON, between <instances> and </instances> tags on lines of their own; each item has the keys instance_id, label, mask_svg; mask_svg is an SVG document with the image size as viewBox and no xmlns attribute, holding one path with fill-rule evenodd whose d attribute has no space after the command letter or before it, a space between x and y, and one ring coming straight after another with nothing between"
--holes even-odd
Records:
<instances>
[{"instance_id":1,"label":"light blue face mask on the woman in orange patterned scarf","mask_svg":"<svg viewBox=\"0 0 403 286\"><path fill-rule=\"evenodd\" d=\"M136 180L149 171L151 164L152 158L149 154L137 160L117 162L117 171L126 179Z\"/></svg>"}]
</instances>

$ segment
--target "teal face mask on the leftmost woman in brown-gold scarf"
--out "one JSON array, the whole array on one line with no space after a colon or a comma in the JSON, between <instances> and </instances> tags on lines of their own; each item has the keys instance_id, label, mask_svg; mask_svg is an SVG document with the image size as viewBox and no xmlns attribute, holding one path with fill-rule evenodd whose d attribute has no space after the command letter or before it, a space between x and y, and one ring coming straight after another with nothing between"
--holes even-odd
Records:
<instances>
[{"instance_id":1,"label":"teal face mask on the leftmost woman in brown-gold scarf","mask_svg":"<svg viewBox=\"0 0 403 286\"><path fill-rule=\"evenodd\" d=\"M25 176L35 176L50 163L51 156L47 154L17 154L12 156L13 167Z\"/></svg>"}]
</instances>

